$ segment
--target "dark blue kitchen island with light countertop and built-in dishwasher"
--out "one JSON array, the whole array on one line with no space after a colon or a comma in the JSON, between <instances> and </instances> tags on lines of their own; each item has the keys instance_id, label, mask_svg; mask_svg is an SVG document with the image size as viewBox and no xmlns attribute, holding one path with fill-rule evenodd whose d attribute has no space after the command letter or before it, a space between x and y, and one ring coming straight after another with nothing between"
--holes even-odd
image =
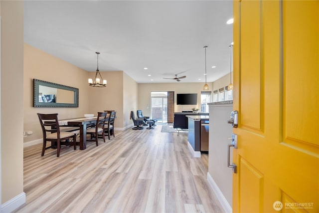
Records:
<instances>
[{"instance_id":1,"label":"dark blue kitchen island with light countertop and built-in dishwasher","mask_svg":"<svg viewBox=\"0 0 319 213\"><path fill-rule=\"evenodd\" d=\"M208 134L209 116L186 115L186 117L188 118L188 149L195 158L200 158L201 151L208 151L208 140L205 144L203 140L206 138L205 135ZM201 141L203 141L202 145ZM204 148L206 144L207 148Z\"/></svg>"}]
</instances>

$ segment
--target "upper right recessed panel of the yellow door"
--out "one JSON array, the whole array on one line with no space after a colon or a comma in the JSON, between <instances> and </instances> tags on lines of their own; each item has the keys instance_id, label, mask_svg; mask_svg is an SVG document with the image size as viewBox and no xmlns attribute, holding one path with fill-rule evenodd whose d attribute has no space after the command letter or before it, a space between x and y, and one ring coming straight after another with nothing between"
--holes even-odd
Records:
<instances>
[{"instance_id":1,"label":"upper right recessed panel of the yellow door","mask_svg":"<svg viewBox=\"0 0 319 213\"><path fill-rule=\"evenodd\" d=\"M314 119L318 106L319 84L318 55L318 2L283 2L284 25L284 137L285 142L306 150L318 148L316 136L319 130L318 120ZM317 13L317 16L316 16ZM294 35L294 36L291 36ZM309 40L312 42L300 42ZM317 54L313 54L317 52ZM315 63L314 63L315 62ZM305 72L305 70L317 70ZM305 83L307 82L307 83ZM303 114L298 112L304 111ZM306 126L316 127L305 128ZM305 145L304 145L305 144Z\"/></svg>"}]
</instances>

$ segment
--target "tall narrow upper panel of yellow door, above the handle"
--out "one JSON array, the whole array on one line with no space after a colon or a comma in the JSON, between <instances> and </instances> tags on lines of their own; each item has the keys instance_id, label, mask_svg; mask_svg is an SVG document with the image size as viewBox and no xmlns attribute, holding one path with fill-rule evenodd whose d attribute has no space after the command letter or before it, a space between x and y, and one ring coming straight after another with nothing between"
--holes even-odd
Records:
<instances>
[{"instance_id":1,"label":"tall narrow upper panel of yellow door, above the handle","mask_svg":"<svg viewBox=\"0 0 319 213\"><path fill-rule=\"evenodd\" d=\"M241 44L241 118L242 126L261 129L261 69L260 69L260 3L259 1L242 2L241 33L245 36ZM252 11L252 12L251 12ZM249 49L249 51L247 51ZM252 72L251 70L254 70Z\"/></svg>"}]
</instances>

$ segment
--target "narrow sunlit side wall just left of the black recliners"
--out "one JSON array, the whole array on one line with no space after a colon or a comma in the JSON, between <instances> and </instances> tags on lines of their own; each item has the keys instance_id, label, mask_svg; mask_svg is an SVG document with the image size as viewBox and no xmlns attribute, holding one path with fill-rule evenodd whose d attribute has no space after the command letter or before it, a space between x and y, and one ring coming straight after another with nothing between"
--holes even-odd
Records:
<instances>
[{"instance_id":1,"label":"narrow sunlit side wall just left of the black recliners","mask_svg":"<svg viewBox=\"0 0 319 213\"><path fill-rule=\"evenodd\" d=\"M138 108L139 84L126 73L123 73L123 116L124 128L133 124L130 120L131 111L136 113Z\"/></svg>"}]
</instances>

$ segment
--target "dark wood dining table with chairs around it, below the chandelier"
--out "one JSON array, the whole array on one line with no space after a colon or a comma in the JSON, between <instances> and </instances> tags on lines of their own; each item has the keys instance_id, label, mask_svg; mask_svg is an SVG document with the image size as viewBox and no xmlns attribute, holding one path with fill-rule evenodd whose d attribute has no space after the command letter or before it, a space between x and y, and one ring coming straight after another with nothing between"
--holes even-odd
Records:
<instances>
[{"instance_id":1,"label":"dark wood dining table with chairs around it, below the chandelier","mask_svg":"<svg viewBox=\"0 0 319 213\"><path fill-rule=\"evenodd\" d=\"M80 141L76 142L80 146L80 150L86 149L86 129L96 124L97 117L89 118L70 118L59 120L60 127L77 127L80 130ZM108 117L107 117L108 120Z\"/></svg>"}]
</instances>

